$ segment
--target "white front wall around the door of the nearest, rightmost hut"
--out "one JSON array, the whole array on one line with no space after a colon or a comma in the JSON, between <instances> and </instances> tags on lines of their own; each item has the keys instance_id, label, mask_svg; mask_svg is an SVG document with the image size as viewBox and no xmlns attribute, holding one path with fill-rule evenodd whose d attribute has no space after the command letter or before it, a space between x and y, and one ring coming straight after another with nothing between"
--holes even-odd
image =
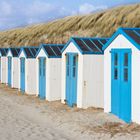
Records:
<instances>
[{"instance_id":1,"label":"white front wall around the door of the nearest, rightmost hut","mask_svg":"<svg viewBox=\"0 0 140 140\"><path fill-rule=\"evenodd\" d=\"M104 111L111 111L111 54L112 48L132 49L131 61L131 99L132 99L132 121L140 123L140 51L129 42L123 35L118 35L116 39L107 47L104 52Z\"/></svg>"}]
</instances>

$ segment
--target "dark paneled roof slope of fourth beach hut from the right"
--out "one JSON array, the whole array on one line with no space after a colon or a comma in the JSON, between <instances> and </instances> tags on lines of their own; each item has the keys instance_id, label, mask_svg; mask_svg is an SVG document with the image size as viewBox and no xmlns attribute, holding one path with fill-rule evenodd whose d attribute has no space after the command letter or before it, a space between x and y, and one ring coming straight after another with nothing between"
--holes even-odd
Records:
<instances>
[{"instance_id":1,"label":"dark paneled roof slope of fourth beach hut from the right","mask_svg":"<svg viewBox=\"0 0 140 140\"><path fill-rule=\"evenodd\" d=\"M35 58L39 47L23 47L22 49L27 58Z\"/></svg>"}]
</instances>

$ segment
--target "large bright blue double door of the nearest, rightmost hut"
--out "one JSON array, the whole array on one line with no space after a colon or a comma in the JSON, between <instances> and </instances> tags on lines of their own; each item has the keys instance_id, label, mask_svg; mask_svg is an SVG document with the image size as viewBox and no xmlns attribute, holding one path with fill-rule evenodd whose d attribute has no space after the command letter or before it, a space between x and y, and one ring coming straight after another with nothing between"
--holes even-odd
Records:
<instances>
[{"instance_id":1,"label":"large bright blue double door of the nearest, rightmost hut","mask_svg":"<svg viewBox=\"0 0 140 140\"><path fill-rule=\"evenodd\" d=\"M131 122L131 49L111 50L111 112Z\"/></svg>"}]
</instances>

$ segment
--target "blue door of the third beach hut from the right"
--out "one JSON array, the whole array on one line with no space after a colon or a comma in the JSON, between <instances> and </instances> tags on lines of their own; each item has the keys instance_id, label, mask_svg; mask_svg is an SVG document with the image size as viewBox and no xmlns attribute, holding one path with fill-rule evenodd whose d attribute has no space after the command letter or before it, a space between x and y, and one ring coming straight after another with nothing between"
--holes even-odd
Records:
<instances>
[{"instance_id":1,"label":"blue door of the third beach hut from the right","mask_svg":"<svg viewBox=\"0 0 140 140\"><path fill-rule=\"evenodd\" d=\"M39 97L46 97L46 58L39 58Z\"/></svg>"}]
</instances>

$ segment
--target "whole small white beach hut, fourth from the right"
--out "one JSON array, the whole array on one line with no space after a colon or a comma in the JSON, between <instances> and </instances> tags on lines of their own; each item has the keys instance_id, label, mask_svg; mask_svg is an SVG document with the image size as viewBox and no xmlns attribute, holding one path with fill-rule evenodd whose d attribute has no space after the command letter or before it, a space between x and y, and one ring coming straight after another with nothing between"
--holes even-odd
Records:
<instances>
[{"instance_id":1,"label":"whole small white beach hut, fourth from the right","mask_svg":"<svg viewBox=\"0 0 140 140\"><path fill-rule=\"evenodd\" d=\"M19 89L22 93L29 95L37 94L37 70L36 70L36 54L38 47L23 47L19 54L20 76Z\"/></svg>"}]
</instances>

